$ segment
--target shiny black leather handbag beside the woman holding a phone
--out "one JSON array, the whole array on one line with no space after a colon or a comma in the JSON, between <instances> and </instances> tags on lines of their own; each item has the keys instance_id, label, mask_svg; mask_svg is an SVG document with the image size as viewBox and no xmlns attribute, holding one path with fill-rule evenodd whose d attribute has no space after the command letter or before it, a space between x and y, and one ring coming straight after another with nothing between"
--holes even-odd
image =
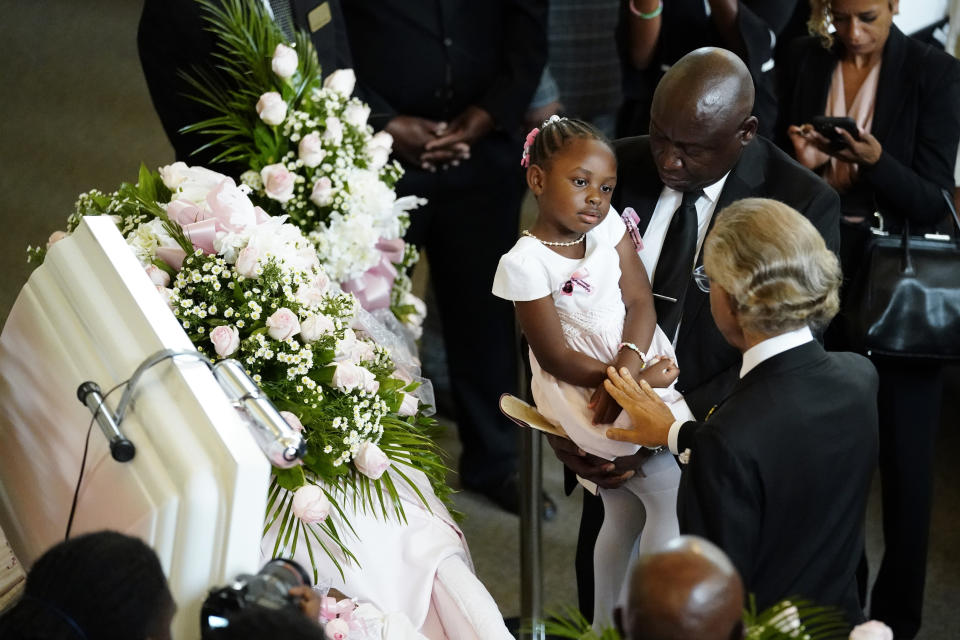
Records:
<instances>
[{"instance_id":1,"label":"shiny black leather handbag beside the woman holding a phone","mask_svg":"<svg viewBox=\"0 0 960 640\"><path fill-rule=\"evenodd\" d=\"M882 218L873 234L844 304L848 337L868 355L960 359L960 236L911 236L906 220L888 234Z\"/></svg>"}]
</instances>

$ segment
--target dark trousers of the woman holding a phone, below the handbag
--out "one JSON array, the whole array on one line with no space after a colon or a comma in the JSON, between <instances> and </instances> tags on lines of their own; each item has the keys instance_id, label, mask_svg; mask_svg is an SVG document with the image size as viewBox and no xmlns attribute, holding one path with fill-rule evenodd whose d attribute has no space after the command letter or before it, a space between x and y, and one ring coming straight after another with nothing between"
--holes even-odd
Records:
<instances>
[{"instance_id":1,"label":"dark trousers of the woman holding a phone, below the handbag","mask_svg":"<svg viewBox=\"0 0 960 640\"><path fill-rule=\"evenodd\" d=\"M917 634L923 612L943 379L937 364L880 359L874 364L880 374L884 552L870 616L901 640Z\"/></svg>"}]
</instances>

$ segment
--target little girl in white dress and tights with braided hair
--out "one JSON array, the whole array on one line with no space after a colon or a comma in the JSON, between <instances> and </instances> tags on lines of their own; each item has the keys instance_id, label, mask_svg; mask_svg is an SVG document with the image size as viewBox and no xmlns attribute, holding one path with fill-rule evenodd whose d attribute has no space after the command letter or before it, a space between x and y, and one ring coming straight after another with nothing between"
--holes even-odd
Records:
<instances>
[{"instance_id":1,"label":"little girl in white dress and tights with braided hair","mask_svg":"<svg viewBox=\"0 0 960 640\"><path fill-rule=\"evenodd\" d=\"M554 116L527 136L521 164L537 220L500 259L494 295L512 300L530 344L537 409L585 452L612 460L636 445L604 434L629 424L603 388L608 366L657 388L678 419L693 419L673 385L670 341L656 325L650 280L623 221L610 212L617 162L593 126ZM626 446L624 446L626 445ZM604 521L594 550L594 625L608 624L631 558L679 534L680 470L653 453L617 489L600 489Z\"/></svg>"}]
</instances>

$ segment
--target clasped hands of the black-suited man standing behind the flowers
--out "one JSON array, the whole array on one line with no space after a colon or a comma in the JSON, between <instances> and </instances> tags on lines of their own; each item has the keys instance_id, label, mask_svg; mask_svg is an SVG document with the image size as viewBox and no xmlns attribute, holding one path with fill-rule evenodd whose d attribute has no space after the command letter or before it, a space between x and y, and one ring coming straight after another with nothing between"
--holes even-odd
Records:
<instances>
[{"instance_id":1,"label":"clasped hands of the black-suited man standing behind the flowers","mask_svg":"<svg viewBox=\"0 0 960 640\"><path fill-rule=\"evenodd\" d=\"M470 147L493 129L493 118L480 107L467 107L450 123L417 116L397 116L385 127L393 149L421 169L456 167L470 159Z\"/></svg>"}]
</instances>

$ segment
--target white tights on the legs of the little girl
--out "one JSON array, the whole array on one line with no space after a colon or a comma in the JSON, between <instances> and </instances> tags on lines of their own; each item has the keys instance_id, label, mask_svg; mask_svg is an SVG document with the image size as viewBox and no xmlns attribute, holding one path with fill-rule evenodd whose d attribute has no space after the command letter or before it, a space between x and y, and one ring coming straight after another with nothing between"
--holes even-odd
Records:
<instances>
[{"instance_id":1,"label":"white tights on the legs of the little girl","mask_svg":"<svg viewBox=\"0 0 960 640\"><path fill-rule=\"evenodd\" d=\"M677 488L680 469L669 451L643 463L645 477L634 476L617 489L600 489L603 526L593 550L593 626L610 626L613 608L626 596L626 577L634 560L680 535Z\"/></svg>"}]
</instances>

